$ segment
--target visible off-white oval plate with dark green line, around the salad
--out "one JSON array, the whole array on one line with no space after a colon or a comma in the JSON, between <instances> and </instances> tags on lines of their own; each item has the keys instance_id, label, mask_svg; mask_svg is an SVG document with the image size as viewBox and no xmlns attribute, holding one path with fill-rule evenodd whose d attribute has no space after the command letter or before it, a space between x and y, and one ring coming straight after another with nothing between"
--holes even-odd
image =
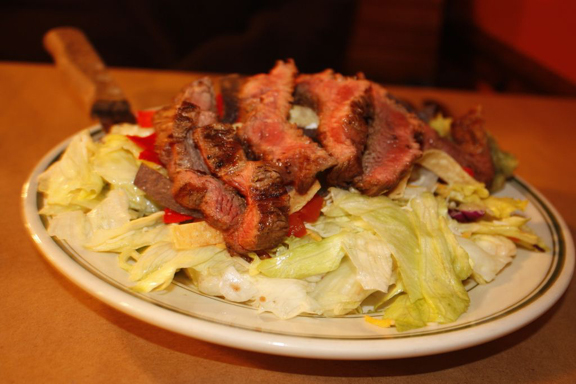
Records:
<instances>
[{"instance_id":1,"label":"visible off-white oval plate with dark green line, around the salad","mask_svg":"<svg viewBox=\"0 0 576 384\"><path fill-rule=\"evenodd\" d=\"M99 128L92 128L97 134ZM270 314L199 293L179 278L167 291L139 294L129 289L116 255L75 249L52 239L38 214L36 179L68 145L58 145L24 185L24 217L45 257L81 288L111 306L159 327L194 338L257 352L325 359L386 359L430 355L484 343L528 324L566 290L574 269L574 245L551 204L516 178L500 194L528 199L530 227L550 247L547 253L519 250L497 279L469 290L471 305L458 321L399 333L365 322L362 316L301 316L278 320Z\"/></svg>"}]
</instances>

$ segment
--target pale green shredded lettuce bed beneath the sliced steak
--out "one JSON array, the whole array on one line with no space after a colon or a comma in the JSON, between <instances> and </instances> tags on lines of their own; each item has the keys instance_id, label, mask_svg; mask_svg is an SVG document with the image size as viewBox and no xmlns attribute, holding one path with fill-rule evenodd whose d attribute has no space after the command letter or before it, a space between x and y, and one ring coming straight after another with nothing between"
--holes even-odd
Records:
<instances>
[{"instance_id":1,"label":"pale green shredded lettuce bed beneath the sliced steak","mask_svg":"<svg viewBox=\"0 0 576 384\"><path fill-rule=\"evenodd\" d=\"M150 133L125 124L94 143L84 131L39 178L48 233L118 253L139 292L164 289L183 270L199 291L281 319L383 309L382 319L368 321L404 331L455 321L470 302L463 281L494 280L517 245L546 249L528 219L515 215L526 201L490 196L449 155L432 150L390 195L396 200L330 188L323 215L306 224L308 235L248 262L232 257L222 233L205 222L164 224L164 213L133 185L141 149L125 135ZM292 192L291 212L319 188ZM486 215L459 223L448 207Z\"/></svg>"}]
</instances>

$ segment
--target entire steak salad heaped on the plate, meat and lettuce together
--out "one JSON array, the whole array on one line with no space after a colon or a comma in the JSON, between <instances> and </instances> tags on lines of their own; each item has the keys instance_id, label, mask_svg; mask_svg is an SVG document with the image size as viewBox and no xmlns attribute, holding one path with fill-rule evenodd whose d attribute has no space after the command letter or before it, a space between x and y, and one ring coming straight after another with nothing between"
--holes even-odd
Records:
<instances>
[{"instance_id":1,"label":"entire steak salad heaped on the plate, meat and lettuce together","mask_svg":"<svg viewBox=\"0 0 576 384\"><path fill-rule=\"evenodd\" d=\"M140 117L82 131L38 180L49 234L118 254L139 292L184 273L281 319L405 331L457 320L466 282L546 249L527 201L490 194L516 161L480 108L423 119L361 74L288 60L194 81Z\"/></svg>"}]
</instances>

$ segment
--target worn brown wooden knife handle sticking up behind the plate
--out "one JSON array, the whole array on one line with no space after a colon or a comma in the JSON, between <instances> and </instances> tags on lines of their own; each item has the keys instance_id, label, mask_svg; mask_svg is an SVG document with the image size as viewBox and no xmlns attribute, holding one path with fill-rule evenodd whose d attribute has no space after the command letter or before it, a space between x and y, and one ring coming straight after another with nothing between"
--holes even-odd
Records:
<instances>
[{"instance_id":1,"label":"worn brown wooden knife handle sticking up behind the plate","mask_svg":"<svg viewBox=\"0 0 576 384\"><path fill-rule=\"evenodd\" d=\"M51 29L44 35L44 47L92 115L95 104L126 102L122 90L81 30Z\"/></svg>"}]
</instances>

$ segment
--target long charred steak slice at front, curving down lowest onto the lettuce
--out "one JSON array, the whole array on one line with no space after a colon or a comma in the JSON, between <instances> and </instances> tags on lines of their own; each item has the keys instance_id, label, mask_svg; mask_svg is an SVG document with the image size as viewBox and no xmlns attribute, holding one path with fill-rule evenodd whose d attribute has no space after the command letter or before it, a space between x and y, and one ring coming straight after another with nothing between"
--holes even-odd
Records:
<instances>
[{"instance_id":1,"label":"long charred steak slice at front, curving down lowest onto the lettuce","mask_svg":"<svg viewBox=\"0 0 576 384\"><path fill-rule=\"evenodd\" d=\"M210 171L246 199L238 225L225 235L228 246L243 254L278 245L288 232L290 209L280 174L262 161L247 161L231 125L207 125L192 136Z\"/></svg>"}]
</instances>

